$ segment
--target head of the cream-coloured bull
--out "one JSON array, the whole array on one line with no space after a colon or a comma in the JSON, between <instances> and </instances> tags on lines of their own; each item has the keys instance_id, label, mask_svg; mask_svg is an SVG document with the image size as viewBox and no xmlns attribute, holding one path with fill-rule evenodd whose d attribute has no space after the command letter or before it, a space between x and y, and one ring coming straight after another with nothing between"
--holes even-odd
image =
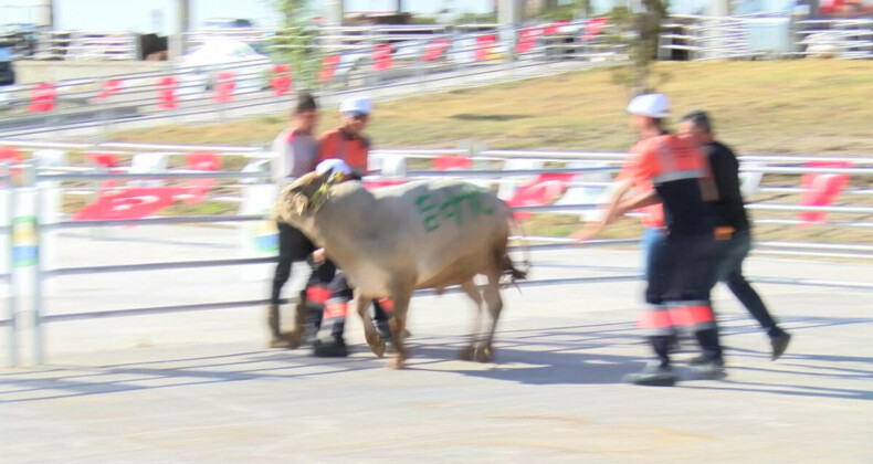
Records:
<instances>
[{"instance_id":1,"label":"head of the cream-coloured bull","mask_svg":"<svg viewBox=\"0 0 873 464\"><path fill-rule=\"evenodd\" d=\"M339 172L309 172L301 177L280 194L276 204L278 219L303 229L330 197L330 186L341 178Z\"/></svg>"}]
</instances>

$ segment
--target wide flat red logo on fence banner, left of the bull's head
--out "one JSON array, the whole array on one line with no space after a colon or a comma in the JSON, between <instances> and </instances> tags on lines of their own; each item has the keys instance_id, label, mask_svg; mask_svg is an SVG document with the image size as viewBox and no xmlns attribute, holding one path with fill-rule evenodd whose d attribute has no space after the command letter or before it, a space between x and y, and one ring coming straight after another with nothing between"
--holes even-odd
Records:
<instances>
[{"instance_id":1,"label":"wide flat red logo on fence banner, left of the bull's head","mask_svg":"<svg viewBox=\"0 0 873 464\"><path fill-rule=\"evenodd\" d=\"M78 210L73 221L113 221L141 219L176 202L178 187L137 187L104 191L96 200Z\"/></svg>"}]
</instances>

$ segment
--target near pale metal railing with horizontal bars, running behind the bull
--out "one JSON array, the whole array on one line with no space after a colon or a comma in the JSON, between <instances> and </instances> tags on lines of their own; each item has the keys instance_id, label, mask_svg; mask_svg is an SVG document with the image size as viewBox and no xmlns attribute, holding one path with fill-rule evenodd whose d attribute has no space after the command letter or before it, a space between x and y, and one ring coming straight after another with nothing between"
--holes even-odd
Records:
<instances>
[{"instance_id":1,"label":"near pale metal railing with horizontal bars, running behind the bull","mask_svg":"<svg viewBox=\"0 0 873 464\"><path fill-rule=\"evenodd\" d=\"M44 146L43 144L34 144L35 146ZM60 144L57 144L60 145ZM108 145L108 144L107 144ZM67 145L67 146L72 146ZM75 145L78 147L78 145ZM158 145L160 146L160 145ZM111 145L111 147L105 148L118 148L124 150L138 150L138 149L149 149L154 148L155 146L149 145L137 145L137 144L115 144ZM192 146L160 146L162 148L171 148L171 149L185 149L191 148ZM35 147L34 147L35 148ZM203 148L203 147L197 147ZM224 150L225 152L232 151L232 149L239 149L244 147L212 147L212 151L221 151ZM395 149L395 150L378 150L371 154L374 157L398 157L402 156L406 158L433 158L435 156L441 155L470 155L470 151L465 151L463 149L448 149L448 150L434 150L434 149ZM486 159L486 160L511 160L517 158L524 159L534 159L539 157L539 161L550 161L550 162L598 162L604 164L607 166L597 166L597 167L585 167L585 166L572 166L566 165L566 167L554 167L554 168L536 168L536 169L469 169L469 170L460 170L460 171L434 171L434 170L416 170L416 171L408 171L404 173L404 178L436 178L436 177L456 177L456 178L464 178L472 181L487 181L494 182L503 182L508 179L513 179L516 177L530 177L540 173L555 173L555 172L566 172L566 173L577 173L577 175L608 175L610 172L617 171L618 164L623 158L623 154L610 154L610 152L600 152L600 158L596 156L598 152L592 151L581 151L581 152L557 152L557 151L524 151L524 150L485 150L473 157L474 160L476 159ZM762 155L755 155L750 156L757 165L751 167L746 167L748 169L755 169L756 171L764 172L764 173L774 173L779 175L781 178L787 173L790 175L801 175L801 173L809 173L809 172L817 172L817 173L829 173L829 172L838 172L838 173L845 173L845 170L834 170L834 169L814 169L808 167L798 167L798 166L785 166L787 164L786 156L762 156ZM818 157L808 157L808 158L818 158ZM856 161L856 165L869 166L873 165L873 158L852 158ZM766 162L767 160L775 160L777 166L772 165L761 165L761 162ZM179 179L202 179L202 178L241 178L241 179L250 179L255 181L267 181L271 177L269 172L158 172L158 173L95 173L95 172L59 172L57 168L52 168L54 173L48 172L35 172L33 175L28 175L27 172L32 171L32 167L27 167L24 178L31 179L31 183L28 183L25 187L20 189L10 189L8 188L8 177L0 176L0 180L4 180L6 189L3 189L8 193L9 199L9 218L15 217L15 199L17 196L20 193L28 193L33 192L35 194L36 200L36 210L39 210L39 204L42 202L43 188L39 187L40 184L45 184L45 182L63 182L63 181L101 181L101 180L144 180L144 179L165 179L165 180L179 180ZM854 170L849 170L852 176L863 176L869 177L873 175L873 168L858 168ZM390 175L387 177L390 179L395 179ZM376 178L379 179L378 177ZM570 187L575 186L591 186L591 184L603 184L609 182L586 182L579 181ZM63 187L62 187L63 188ZM785 189L786 187L774 187L774 188L781 188ZM20 192L19 192L20 190ZM869 188L850 188L846 190L855 191L858 190L858 194L871 194L871 189ZM598 204L591 203L583 203L583 204L541 204L541 205L530 205L530 207L519 207L516 208L518 212L529 212L535 214L541 213L559 213L559 214L579 214L581 212L597 210L599 208ZM768 202L754 202L748 207L753 211L760 211L760 212L798 212L798 211L821 211L828 212L831 214L840 214L840 215L853 215L860 217L855 221L856 224L863 224L864 226L873 226L873 222L870 221L870 217L873 217L873 205L832 205L832 207L806 207L806 205L797 205L797 204L785 204L785 203L770 203ZM103 226L116 226L116 225L126 225L126 224L136 224L136 225L157 225L157 224L180 224L180 223L213 223L213 222L231 222L231 223L243 223L250 221L263 221L264 218L262 215L252 215L252 214L229 214L229 215L196 215L196 217L161 217L161 218L144 218L137 220L92 220L92 221L70 221L63 220L60 222L49 222L41 224L39 222L39 214L36 214L36 223L33 224L36 231L36 245L43 246L48 239L48 234L53 231L60 230L70 230L70 229L92 229L92 228L103 228ZM774 221L788 221L786 219L772 219ZM766 218L757 218L755 219L756 223L766 223L768 219ZM10 224L12 221L10 219ZM819 226L825 228L839 228L846 225L843 221L829 221L816 224ZM11 233L11 229L9 229L9 236L10 236L10 250L17 245L17 243L12 240L13 234ZM525 238L513 238L514 241L525 241L529 243L529 250L533 252L540 252L540 251L548 251L548 250L561 250L566 249L567 246L579 245L578 242L566 239L566 238L554 238L554 236L525 236ZM583 246L628 246L634 245L638 243L638 240L599 240L592 242L586 242ZM873 260L873 245L871 244L850 244L850 243L814 243L814 242L797 242L797 241L760 241L756 243L757 250L756 253L758 254L767 254L774 256L783 256L783 257L800 257L800 259L851 259L851 260ZM517 246L513 246L513 250L517 250ZM12 253L9 253L11 256ZM39 253L36 253L39 256ZM10 257L11 260L11 257ZM143 314L162 314L162 313L178 313L178 312L196 312L196 310L213 310L213 309L222 309L222 308L231 308L231 307L248 307L248 306L255 306L267 303L266 299L241 299L241 300L233 300L233 302L212 302L212 303L196 303L196 304L183 304L183 305L170 305L170 306L148 306L148 307L135 307L135 308L124 308L124 309L109 309L109 310L94 310L94 312L84 312L84 313L74 313L74 314L50 314L46 312L45 307L45 297L43 294L43 284L45 280L50 278L59 278L65 276L75 276L75 275L86 275L86 274L109 274L109 273L129 273L129 272L158 272L158 271L170 271L170 270L182 270L182 268L206 268L212 266L242 266L242 265L253 265L253 264L267 264L274 261L274 257L242 257L242 259L220 259L220 260L194 260L194 261L161 261L161 262L151 262L151 263L135 263L135 264L115 264L115 265L72 265L72 266L64 266L64 267L56 267L56 268L45 268L44 263L38 261L35 264L35 273L33 276L33 297L31 302L31 310L33 312L33 317L31 318L33 324L33 354L36 362L44 361L44 333L42 326L48 323L60 323L66 320L81 320L81 319L91 319L91 318L101 318L101 317L122 317L122 316L133 316L133 315L143 315ZM12 270L12 265L10 263L10 270ZM630 274L618 275L618 276L609 276L609 277L572 277L572 278L551 278L545 281L533 281L529 283L525 283L524 285L556 285L556 284L567 284L567 283L600 283L600 282L622 282L622 281L632 281L639 278L638 273L635 270ZM0 278L9 280L11 282L12 274L9 275L0 275ZM841 281L829 281L829 280L801 280L801 278L787 278L787 277L765 277L758 280L761 282L769 282L775 284L785 284L785 285L820 285L820 286L831 286L838 288L853 288L853 289L873 289L873 285L859 283L859 282L841 282ZM428 292L420 292L417 295L424 295L429 294ZM15 308L17 308L17 300L13 295L13 292L10 292L9 298L7 302L8 306L8 315L9 317L4 320L0 320L0 326L6 326L9 328L8 333L11 337L10 340L10 348L12 348L9 352L9 360L10 363L15 363L18 361L18 355L14 351L15 348L15 337L18 325L15 324Z\"/></svg>"}]
</instances>

